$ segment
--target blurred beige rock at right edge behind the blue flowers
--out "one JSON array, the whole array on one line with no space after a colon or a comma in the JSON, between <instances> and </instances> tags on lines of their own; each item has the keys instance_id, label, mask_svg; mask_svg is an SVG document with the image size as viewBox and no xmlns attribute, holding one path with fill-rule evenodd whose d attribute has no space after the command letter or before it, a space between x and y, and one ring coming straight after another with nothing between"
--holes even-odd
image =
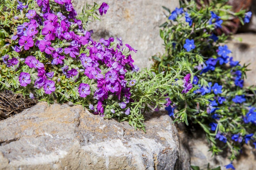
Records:
<instances>
[{"instance_id":1,"label":"blurred beige rock at right edge behind the blue flowers","mask_svg":"<svg viewBox=\"0 0 256 170\"><path fill-rule=\"evenodd\" d=\"M238 39L242 38L240 42ZM248 65L246 72L247 79L245 86L256 85L256 34L241 33L233 35L233 39L228 42L228 47L232 51L233 60L240 61L240 64Z\"/></svg>"}]
</instances>

